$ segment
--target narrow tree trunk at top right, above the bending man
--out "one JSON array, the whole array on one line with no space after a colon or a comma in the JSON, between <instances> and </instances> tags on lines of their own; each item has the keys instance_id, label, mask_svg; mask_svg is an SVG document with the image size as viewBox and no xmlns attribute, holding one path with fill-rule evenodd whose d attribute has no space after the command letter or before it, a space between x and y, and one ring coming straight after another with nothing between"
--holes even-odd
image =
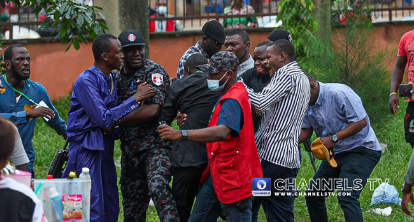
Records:
<instances>
[{"instance_id":1,"label":"narrow tree trunk at top right, above the bending man","mask_svg":"<svg viewBox=\"0 0 414 222\"><path fill-rule=\"evenodd\" d=\"M314 0L315 18L318 22L318 36L327 45L332 44L331 1Z\"/></svg>"}]
</instances>

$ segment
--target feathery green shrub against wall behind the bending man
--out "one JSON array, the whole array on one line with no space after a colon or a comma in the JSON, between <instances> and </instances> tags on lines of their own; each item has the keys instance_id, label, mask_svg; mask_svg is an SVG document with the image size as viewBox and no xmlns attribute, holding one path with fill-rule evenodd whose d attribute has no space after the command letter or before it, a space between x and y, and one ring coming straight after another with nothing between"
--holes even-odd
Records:
<instances>
[{"instance_id":1,"label":"feathery green shrub against wall behind the bending man","mask_svg":"<svg viewBox=\"0 0 414 222\"><path fill-rule=\"evenodd\" d=\"M309 70L322 82L350 86L362 99L372 121L380 121L388 112L389 72L387 51L370 42L373 26L358 17L333 31L332 46L312 36L308 43Z\"/></svg>"}]
</instances>

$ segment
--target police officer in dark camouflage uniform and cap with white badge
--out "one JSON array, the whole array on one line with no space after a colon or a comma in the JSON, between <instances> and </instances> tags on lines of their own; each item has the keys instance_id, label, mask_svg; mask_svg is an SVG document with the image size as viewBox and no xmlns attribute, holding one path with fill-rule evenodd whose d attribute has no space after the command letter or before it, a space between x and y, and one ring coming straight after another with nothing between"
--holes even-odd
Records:
<instances>
[{"instance_id":1,"label":"police officer in dark camouflage uniform and cap with white badge","mask_svg":"<svg viewBox=\"0 0 414 222\"><path fill-rule=\"evenodd\" d=\"M161 221L179 221L169 182L171 179L171 142L157 133L158 117L170 90L170 77L165 69L145 59L145 42L136 30L125 30L119 37L124 66L117 77L118 97L122 102L131 97L141 83L156 89L154 97L119 122L121 138L121 191L124 221L146 221L150 198Z\"/></svg>"}]
</instances>

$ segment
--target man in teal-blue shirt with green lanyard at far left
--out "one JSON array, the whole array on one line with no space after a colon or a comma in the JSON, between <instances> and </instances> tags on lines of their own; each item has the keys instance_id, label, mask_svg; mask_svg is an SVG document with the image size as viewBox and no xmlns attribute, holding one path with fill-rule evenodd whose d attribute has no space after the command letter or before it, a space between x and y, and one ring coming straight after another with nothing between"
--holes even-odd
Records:
<instances>
[{"instance_id":1,"label":"man in teal-blue shirt with green lanyard at far left","mask_svg":"<svg viewBox=\"0 0 414 222\"><path fill-rule=\"evenodd\" d=\"M4 52L6 74L0 77L5 87L0 93L0 115L10 119L19 129L24 149L29 157L29 169L34 177L35 151L33 134L36 118L43 117L47 125L66 137L66 123L50 101L45 87L30 77L30 55L24 45L14 44ZM49 108L39 106L44 102Z\"/></svg>"}]
</instances>

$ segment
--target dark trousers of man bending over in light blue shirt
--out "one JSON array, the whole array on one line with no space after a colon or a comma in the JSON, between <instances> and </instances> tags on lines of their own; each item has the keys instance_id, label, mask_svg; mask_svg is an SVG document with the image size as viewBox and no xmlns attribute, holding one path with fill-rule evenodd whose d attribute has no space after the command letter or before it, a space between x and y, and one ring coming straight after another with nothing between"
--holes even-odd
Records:
<instances>
[{"instance_id":1,"label":"dark trousers of man bending over in light blue shirt","mask_svg":"<svg viewBox=\"0 0 414 222\"><path fill-rule=\"evenodd\" d=\"M338 167L333 168L328 162L323 161L313 177L309 188L320 179L346 179L342 180L344 189L341 190L344 192L339 192L338 190L338 203L344 211L345 220L352 222L364 221L358 199L372 170L381 159L381 151L373 151L365 147L358 147L350 151L336 154L334 157L338 163ZM318 178L320 179L318 180ZM358 188L354 186L354 181L360 181L360 186ZM354 189L352 189L352 187ZM337 187L334 185L333 188L336 189ZM321 190L321 192L329 193L329 190ZM351 195L347 196L339 194L346 194L346 192L350 192ZM306 205L308 206L311 221L328 221L324 196L306 196Z\"/></svg>"}]
</instances>

